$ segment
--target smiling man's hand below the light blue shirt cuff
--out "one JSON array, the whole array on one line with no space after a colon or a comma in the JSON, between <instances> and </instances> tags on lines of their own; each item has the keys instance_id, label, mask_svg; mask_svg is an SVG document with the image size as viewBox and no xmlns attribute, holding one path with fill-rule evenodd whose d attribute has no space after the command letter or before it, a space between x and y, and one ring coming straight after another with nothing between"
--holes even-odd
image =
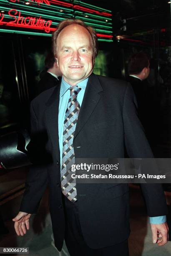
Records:
<instances>
[{"instance_id":1,"label":"smiling man's hand below the light blue shirt cuff","mask_svg":"<svg viewBox=\"0 0 171 256\"><path fill-rule=\"evenodd\" d=\"M168 225L167 223L162 224L151 224L153 243L157 243L158 246L163 246L168 241ZM158 239L160 238L160 239Z\"/></svg>"}]
</instances>

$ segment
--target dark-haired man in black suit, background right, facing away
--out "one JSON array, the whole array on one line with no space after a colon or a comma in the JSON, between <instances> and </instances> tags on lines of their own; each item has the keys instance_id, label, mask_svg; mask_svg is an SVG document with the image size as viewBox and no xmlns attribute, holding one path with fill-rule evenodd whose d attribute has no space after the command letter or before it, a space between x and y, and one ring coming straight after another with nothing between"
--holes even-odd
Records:
<instances>
[{"instance_id":1,"label":"dark-haired man in black suit, background right, facing away","mask_svg":"<svg viewBox=\"0 0 171 256\"><path fill-rule=\"evenodd\" d=\"M128 60L128 74L127 81L131 83L133 91L136 95L138 106L138 117L145 129L148 141L152 142L154 133L153 127L153 95L146 78L150 72L150 63L148 56L143 52L133 54Z\"/></svg>"}]
</instances>

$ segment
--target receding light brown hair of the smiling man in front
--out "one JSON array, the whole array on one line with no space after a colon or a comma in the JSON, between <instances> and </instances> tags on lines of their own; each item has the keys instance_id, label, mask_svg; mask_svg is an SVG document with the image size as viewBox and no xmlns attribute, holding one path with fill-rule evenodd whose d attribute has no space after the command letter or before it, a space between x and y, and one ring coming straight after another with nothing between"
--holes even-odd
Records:
<instances>
[{"instance_id":1,"label":"receding light brown hair of the smiling man in front","mask_svg":"<svg viewBox=\"0 0 171 256\"><path fill-rule=\"evenodd\" d=\"M59 36L60 31L62 31L63 28L72 24L80 25L83 28L85 28L88 31L88 33L90 33L92 39L93 58L95 59L98 54L96 32L91 26L87 26L82 20L63 20L58 24L57 29L53 33L52 37L54 56L57 57L57 38Z\"/></svg>"}]
</instances>

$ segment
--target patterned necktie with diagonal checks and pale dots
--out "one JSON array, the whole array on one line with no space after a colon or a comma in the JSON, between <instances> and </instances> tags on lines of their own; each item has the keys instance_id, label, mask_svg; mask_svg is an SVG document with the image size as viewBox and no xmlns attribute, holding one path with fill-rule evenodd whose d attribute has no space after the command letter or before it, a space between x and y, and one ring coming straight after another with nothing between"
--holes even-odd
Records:
<instances>
[{"instance_id":1,"label":"patterned necktie with diagonal checks and pale dots","mask_svg":"<svg viewBox=\"0 0 171 256\"><path fill-rule=\"evenodd\" d=\"M63 194L68 197L71 202L77 200L76 181L71 177L71 166L75 164L73 138L75 127L80 112L80 104L77 101L78 92L81 88L72 86L70 89L70 98L68 100L65 112L65 121L63 126L63 156L61 168L61 188Z\"/></svg>"}]
</instances>

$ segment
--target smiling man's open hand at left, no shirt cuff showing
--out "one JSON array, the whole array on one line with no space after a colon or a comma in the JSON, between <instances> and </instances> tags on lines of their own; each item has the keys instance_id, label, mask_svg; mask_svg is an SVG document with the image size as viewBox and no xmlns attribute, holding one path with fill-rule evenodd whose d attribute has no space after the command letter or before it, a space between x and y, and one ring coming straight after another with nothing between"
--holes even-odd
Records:
<instances>
[{"instance_id":1,"label":"smiling man's open hand at left, no shirt cuff showing","mask_svg":"<svg viewBox=\"0 0 171 256\"><path fill-rule=\"evenodd\" d=\"M13 218L15 232L18 236L26 234L26 228L29 230L29 218L31 214L27 212L18 212L18 215ZM25 228L26 227L26 228Z\"/></svg>"}]
</instances>

